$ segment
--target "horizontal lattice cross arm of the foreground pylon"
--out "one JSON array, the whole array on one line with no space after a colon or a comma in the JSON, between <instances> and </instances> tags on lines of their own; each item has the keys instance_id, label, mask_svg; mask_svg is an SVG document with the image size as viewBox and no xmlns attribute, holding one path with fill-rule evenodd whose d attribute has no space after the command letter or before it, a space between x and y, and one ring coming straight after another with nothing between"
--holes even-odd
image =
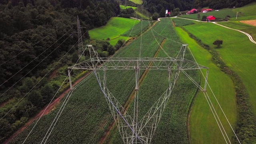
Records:
<instances>
[{"instance_id":1,"label":"horizontal lattice cross arm of the foreground pylon","mask_svg":"<svg viewBox=\"0 0 256 144\"><path fill-rule=\"evenodd\" d=\"M183 58L92 58L69 68L82 70L196 70L208 69Z\"/></svg>"}]
</instances>

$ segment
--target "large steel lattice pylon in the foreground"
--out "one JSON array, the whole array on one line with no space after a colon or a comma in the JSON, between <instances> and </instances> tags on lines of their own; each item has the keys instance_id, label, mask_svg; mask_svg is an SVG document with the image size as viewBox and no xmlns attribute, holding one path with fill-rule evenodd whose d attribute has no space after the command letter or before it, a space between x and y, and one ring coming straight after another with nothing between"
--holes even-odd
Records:
<instances>
[{"instance_id":1,"label":"large steel lattice pylon in the foreground","mask_svg":"<svg viewBox=\"0 0 256 144\"><path fill-rule=\"evenodd\" d=\"M205 66L184 59L186 44L183 44L176 58L100 58L92 45L87 45L90 60L86 60L69 68L93 70L100 88L108 102L112 116L125 144L149 144L164 112L166 102L170 98L180 71L207 69ZM139 70L166 70L168 72L168 88L158 98L142 119L138 120L138 83ZM106 70L134 70L135 98L134 116L130 116L106 86ZM103 74L100 74L102 73ZM207 75L208 76L208 75ZM207 83L207 81L206 81ZM205 83L205 84L206 84ZM206 88L206 87L205 87ZM205 90L205 89L204 89Z\"/></svg>"}]
</instances>

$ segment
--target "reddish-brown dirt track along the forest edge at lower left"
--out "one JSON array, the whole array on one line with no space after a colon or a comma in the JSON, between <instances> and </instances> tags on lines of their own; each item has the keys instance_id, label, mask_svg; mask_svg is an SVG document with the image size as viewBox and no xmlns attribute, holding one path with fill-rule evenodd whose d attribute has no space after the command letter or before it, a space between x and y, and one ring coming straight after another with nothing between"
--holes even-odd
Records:
<instances>
[{"instance_id":1,"label":"reddish-brown dirt track along the forest edge at lower left","mask_svg":"<svg viewBox=\"0 0 256 144\"><path fill-rule=\"evenodd\" d=\"M88 72L85 76L83 76L82 78L80 78L79 80L77 80L73 86L75 86L76 84L78 84L81 80L83 80L86 76L88 76L91 72ZM28 120L28 122L26 122L26 124L24 126L22 126L22 128L20 128L19 130L17 130L14 134L12 134L12 136L10 136L10 138L8 138L6 141L4 141L3 144L8 144L8 142L10 142L10 140L12 140L12 138L14 138L15 136L17 136L20 132L22 132L22 130L24 130L25 128L27 128L34 120L40 118L40 116L44 116L46 114L48 114L50 111L52 111L56 104L58 104L60 102L60 100L65 96L65 94L67 94L69 92L70 89L66 90L65 92L63 92L58 98L56 98L52 103L50 103L50 105L44 106L44 108L42 108L42 110L34 117L30 118ZM45 110L46 109L46 110ZM45 111L44 111L45 110Z\"/></svg>"}]
</instances>

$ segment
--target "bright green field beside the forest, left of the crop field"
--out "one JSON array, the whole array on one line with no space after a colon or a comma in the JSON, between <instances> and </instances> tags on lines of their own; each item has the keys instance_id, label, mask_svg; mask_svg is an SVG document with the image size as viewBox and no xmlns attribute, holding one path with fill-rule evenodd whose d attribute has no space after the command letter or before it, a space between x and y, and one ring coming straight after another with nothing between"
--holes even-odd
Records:
<instances>
[{"instance_id":1,"label":"bright green field beside the forest, left of the crop field","mask_svg":"<svg viewBox=\"0 0 256 144\"><path fill-rule=\"evenodd\" d=\"M139 22L140 21L138 20L129 18L113 17L108 21L106 26L90 30L89 35L91 39L106 40L107 38L110 38L110 43L116 44L116 38L120 38L120 34L123 34Z\"/></svg>"}]
</instances>

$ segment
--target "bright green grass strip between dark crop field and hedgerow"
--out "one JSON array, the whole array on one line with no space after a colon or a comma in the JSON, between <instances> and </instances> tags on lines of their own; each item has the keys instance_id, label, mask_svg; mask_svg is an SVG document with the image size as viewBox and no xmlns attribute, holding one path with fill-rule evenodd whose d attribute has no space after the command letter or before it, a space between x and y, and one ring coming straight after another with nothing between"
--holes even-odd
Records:
<instances>
[{"instance_id":1,"label":"bright green grass strip between dark crop field and hedgerow","mask_svg":"<svg viewBox=\"0 0 256 144\"><path fill-rule=\"evenodd\" d=\"M188 44L190 50L194 54L199 64L209 68L208 83L211 86L220 106L222 106L228 120L234 128L236 122L236 96L232 80L224 72L222 72L211 61L211 54L199 46L192 38L188 36L184 30L176 27L176 31L182 39L183 43ZM205 71L203 71L205 75ZM204 84L204 78L201 75L201 86ZM215 98L208 88L209 97L217 110L218 116L226 129L228 136L231 138L234 134L222 114ZM194 99L190 113L190 138L191 144L222 144L225 142L218 124L210 110L210 107L202 92L198 92Z\"/></svg>"}]
</instances>

